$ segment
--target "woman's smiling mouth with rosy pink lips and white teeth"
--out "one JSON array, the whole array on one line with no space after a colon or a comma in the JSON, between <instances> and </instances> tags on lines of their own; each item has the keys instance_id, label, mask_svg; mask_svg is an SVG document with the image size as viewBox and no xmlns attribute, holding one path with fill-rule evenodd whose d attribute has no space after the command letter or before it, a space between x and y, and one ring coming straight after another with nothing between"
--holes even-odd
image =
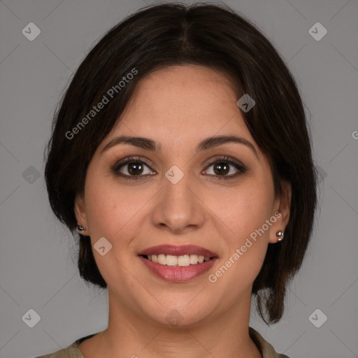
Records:
<instances>
[{"instance_id":1,"label":"woman's smiling mouth with rosy pink lips and white teeth","mask_svg":"<svg viewBox=\"0 0 358 358\"><path fill-rule=\"evenodd\" d=\"M151 273L170 282L183 282L208 271L219 257L196 245L158 245L138 253Z\"/></svg>"}]
</instances>

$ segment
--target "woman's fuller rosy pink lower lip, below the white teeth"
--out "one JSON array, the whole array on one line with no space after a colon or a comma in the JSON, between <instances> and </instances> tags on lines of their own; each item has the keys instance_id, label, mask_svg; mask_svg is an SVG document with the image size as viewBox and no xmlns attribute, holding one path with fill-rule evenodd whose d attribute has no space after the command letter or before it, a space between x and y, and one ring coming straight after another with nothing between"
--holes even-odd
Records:
<instances>
[{"instance_id":1,"label":"woman's fuller rosy pink lower lip, below the white teeth","mask_svg":"<svg viewBox=\"0 0 358 358\"><path fill-rule=\"evenodd\" d=\"M213 257L213 259L195 265L166 266L145 259L143 256L139 256L139 258L142 260L143 264L145 264L145 266L152 271L152 273L157 275L159 278L170 282L185 282L192 280L210 270L217 260L217 257Z\"/></svg>"}]
</instances>

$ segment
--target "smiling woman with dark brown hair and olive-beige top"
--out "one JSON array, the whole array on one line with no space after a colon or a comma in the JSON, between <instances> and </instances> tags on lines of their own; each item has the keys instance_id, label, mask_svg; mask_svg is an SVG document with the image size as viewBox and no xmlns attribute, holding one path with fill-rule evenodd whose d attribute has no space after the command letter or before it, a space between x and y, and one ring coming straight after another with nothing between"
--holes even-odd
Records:
<instances>
[{"instance_id":1,"label":"smiling woman with dark brown hair and olive-beige top","mask_svg":"<svg viewBox=\"0 0 358 358\"><path fill-rule=\"evenodd\" d=\"M42 358L287 357L250 303L282 317L316 174L299 91L255 25L171 3L110 29L55 114L45 178L109 317Z\"/></svg>"}]
</instances>

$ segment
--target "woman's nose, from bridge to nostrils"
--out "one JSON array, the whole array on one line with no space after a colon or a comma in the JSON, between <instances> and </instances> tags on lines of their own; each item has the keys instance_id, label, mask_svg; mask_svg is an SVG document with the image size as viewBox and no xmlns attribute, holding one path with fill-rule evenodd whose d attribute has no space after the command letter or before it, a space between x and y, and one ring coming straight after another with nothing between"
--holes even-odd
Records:
<instances>
[{"instance_id":1,"label":"woman's nose, from bridge to nostrils","mask_svg":"<svg viewBox=\"0 0 358 358\"><path fill-rule=\"evenodd\" d=\"M198 229L206 220L199 182L194 182L189 175L182 176L178 182L171 180L170 176L163 176L162 189L157 193L155 201L153 224L171 233L184 234Z\"/></svg>"}]
</instances>

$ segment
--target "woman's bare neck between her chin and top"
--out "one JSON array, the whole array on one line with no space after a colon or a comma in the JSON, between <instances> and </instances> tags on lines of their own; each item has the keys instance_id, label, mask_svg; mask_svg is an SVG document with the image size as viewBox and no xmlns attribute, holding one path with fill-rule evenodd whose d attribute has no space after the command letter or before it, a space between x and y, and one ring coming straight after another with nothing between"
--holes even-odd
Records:
<instances>
[{"instance_id":1,"label":"woman's bare neck between her chin and top","mask_svg":"<svg viewBox=\"0 0 358 358\"><path fill-rule=\"evenodd\" d=\"M95 336L94 348L105 354L93 356L262 358L248 333L251 295L201 322L169 327L118 303L110 289L108 299L108 327Z\"/></svg>"}]
</instances>

